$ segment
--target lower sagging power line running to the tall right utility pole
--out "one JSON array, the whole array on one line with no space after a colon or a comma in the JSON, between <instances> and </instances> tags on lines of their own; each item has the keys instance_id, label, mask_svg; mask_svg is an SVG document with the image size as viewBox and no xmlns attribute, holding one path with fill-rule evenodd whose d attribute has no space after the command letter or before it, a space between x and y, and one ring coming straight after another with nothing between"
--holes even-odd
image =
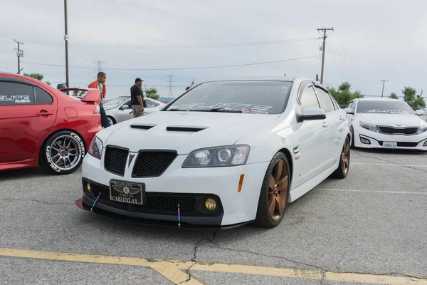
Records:
<instances>
[{"instance_id":1,"label":"lower sagging power line running to the tall right utility pole","mask_svg":"<svg viewBox=\"0 0 427 285\"><path fill-rule=\"evenodd\" d=\"M213 68L228 68L228 67L237 67L237 66L255 66L261 64L270 64L270 63L282 63L286 61L299 61L307 58L317 58L319 56L305 56L302 58L289 58L283 59L280 61L263 61L258 63L243 63L243 64L232 64L227 66L199 66L199 67L189 67L189 68L105 68L112 71L183 71L183 70L191 70L191 69L213 69ZM33 62L25 62L28 64L36 64L38 66L56 66L63 67L58 64L50 64L50 63L33 63ZM83 68L83 69L93 69L93 67L89 66L70 66L70 68Z\"/></svg>"}]
</instances>

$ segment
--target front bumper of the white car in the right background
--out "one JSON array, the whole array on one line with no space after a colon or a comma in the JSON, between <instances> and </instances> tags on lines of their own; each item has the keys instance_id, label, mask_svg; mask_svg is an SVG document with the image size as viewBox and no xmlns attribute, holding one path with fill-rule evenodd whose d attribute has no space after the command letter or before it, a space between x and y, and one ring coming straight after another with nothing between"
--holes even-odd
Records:
<instances>
[{"instance_id":1,"label":"front bumper of the white car in the right background","mask_svg":"<svg viewBox=\"0 0 427 285\"><path fill-rule=\"evenodd\" d=\"M419 135L386 135L364 128L354 128L354 146L363 148L387 148L384 142L396 142L394 149L427 150L427 133ZM426 143L426 146L424 144Z\"/></svg>"}]
</instances>

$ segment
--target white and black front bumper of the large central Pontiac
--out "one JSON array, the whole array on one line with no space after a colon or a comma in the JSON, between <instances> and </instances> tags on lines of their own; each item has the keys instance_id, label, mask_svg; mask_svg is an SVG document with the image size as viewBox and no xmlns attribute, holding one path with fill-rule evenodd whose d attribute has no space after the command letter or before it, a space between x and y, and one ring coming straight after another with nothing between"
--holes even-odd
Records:
<instances>
[{"instance_id":1,"label":"white and black front bumper of the large central Pontiac","mask_svg":"<svg viewBox=\"0 0 427 285\"><path fill-rule=\"evenodd\" d=\"M104 170L103 160L86 155L82 165L84 194L81 201L76 201L76 204L82 209L90 209L99 194L96 187L101 187L102 192L107 194L100 196L93 212L130 222L178 227L177 204L187 207L181 208L181 227L209 229L236 227L255 219L260 189L269 162L236 167L184 169L181 165L185 158L186 155L178 155L172 165L159 177L135 178L131 177L130 172L126 172L124 176L107 172ZM238 192L242 174L245 176L241 191ZM144 205L135 207L111 202L108 194L110 180L143 183L146 195ZM91 187L96 185L93 189L95 194L85 191L86 182L90 182ZM167 197L165 198L167 201L157 202L162 204L162 207L157 207L158 205L154 205L152 201L158 201L160 196ZM216 199L217 209L214 212L204 212L201 209L207 197ZM186 198L194 201L194 207L188 208Z\"/></svg>"}]
</instances>

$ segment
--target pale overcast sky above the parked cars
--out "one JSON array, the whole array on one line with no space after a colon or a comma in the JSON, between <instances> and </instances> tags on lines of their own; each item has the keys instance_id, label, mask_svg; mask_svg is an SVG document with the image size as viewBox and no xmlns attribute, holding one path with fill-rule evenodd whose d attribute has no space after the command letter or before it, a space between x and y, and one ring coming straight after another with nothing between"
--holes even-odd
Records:
<instances>
[{"instance_id":1,"label":"pale overcast sky above the parked cars","mask_svg":"<svg viewBox=\"0 0 427 285\"><path fill-rule=\"evenodd\" d=\"M43 73L53 86L65 82L63 1L2 2L0 71L17 72L16 39L23 42L22 72ZM71 0L69 64L75 67L70 67L70 86L86 87L95 80L98 59L105 62L107 98L129 95L136 77L156 86L162 96L169 95L169 74L174 76L174 96L193 79L200 83L284 73L314 79L321 70L317 28L334 27L327 37L325 83L337 87L349 81L352 90L381 95L380 79L386 79L385 95L396 92L400 97L404 86L412 86L417 93L424 89L426 97L426 15L427 1L421 0ZM206 46L248 42L263 43ZM305 59L284 61L295 58ZM268 61L284 62L135 70Z\"/></svg>"}]
</instances>

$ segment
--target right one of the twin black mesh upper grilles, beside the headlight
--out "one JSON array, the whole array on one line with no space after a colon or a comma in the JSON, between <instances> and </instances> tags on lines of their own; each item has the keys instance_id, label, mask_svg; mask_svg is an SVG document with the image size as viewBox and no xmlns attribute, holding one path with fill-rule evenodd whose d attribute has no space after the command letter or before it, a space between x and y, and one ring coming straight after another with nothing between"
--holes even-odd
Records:
<instances>
[{"instance_id":1,"label":"right one of the twin black mesh upper grilles, beside the headlight","mask_svg":"<svg viewBox=\"0 0 427 285\"><path fill-rule=\"evenodd\" d=\"M176 158L175 151L139 152L132 177L157 177L163 174Z\"/></svg>"}]
</instances>

